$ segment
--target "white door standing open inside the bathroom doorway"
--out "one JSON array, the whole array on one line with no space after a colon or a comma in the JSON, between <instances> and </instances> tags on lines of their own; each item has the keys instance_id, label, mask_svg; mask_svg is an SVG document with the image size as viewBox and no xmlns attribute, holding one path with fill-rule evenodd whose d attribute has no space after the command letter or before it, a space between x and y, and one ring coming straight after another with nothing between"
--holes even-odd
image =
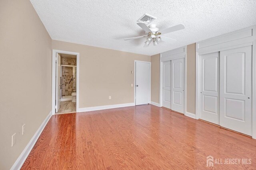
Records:
<instances>
[{"instance_id":1,"label":"white door standing open inside the bathroom doorway","mask_svg":"<svg viewBox=\"0 0 256 170\"><path fill-rule=\"evenodd\" d=\"M61 87L61 81L60 81L60 55L56 54L56 107L55 111L58 113L58 110L60 109L60 87Z\"/></svg>"}]
</instances>

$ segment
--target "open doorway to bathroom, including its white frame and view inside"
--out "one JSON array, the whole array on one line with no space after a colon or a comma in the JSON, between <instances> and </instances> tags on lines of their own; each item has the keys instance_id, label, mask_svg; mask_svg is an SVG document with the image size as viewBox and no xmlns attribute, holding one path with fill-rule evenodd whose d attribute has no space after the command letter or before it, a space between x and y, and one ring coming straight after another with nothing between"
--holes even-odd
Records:
<instances>
[{"instance_id":1,"label":"open doorway to bathroom, including its white frame and view inside","mask_svg":"<svg viewBox=\"0 0 256 170\"><path fill-rule=\"evenodd\" d=\"M52 114L78 109L79 53L53 50Z\"/></svg>"}]
</instances>

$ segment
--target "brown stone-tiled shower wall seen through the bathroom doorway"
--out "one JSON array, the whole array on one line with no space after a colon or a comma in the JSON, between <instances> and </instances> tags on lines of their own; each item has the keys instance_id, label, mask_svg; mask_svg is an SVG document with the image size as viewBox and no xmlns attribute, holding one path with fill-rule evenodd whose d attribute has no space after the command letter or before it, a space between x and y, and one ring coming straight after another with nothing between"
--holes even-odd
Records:
<instances>
[{"instance_id":1,"label":"brown stone-tiled shower wall seen through the bathroom doorway","mask_svg":"<svg viewBox=\"0 0 256 170\"><path fill-rule=\"evenodd\" d=\"M76 65L76 59L68 59L62 57L63 65ZM75 74L76 75L76 74ZM71 96L72 92L76 92L76 77L68 84L73 76L73 67L62 66L62 96Z\"/></svg>"}]
</instances>

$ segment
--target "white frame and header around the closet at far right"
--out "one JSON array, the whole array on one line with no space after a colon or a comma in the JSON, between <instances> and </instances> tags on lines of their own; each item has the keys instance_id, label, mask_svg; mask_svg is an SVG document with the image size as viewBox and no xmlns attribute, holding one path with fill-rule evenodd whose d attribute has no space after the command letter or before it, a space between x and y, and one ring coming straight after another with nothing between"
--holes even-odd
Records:
<instances>
[{"instance_id":1,"label":"white frame and header around the closet at far right","mask_svg":"<svg viewBox=\"0 0 256 170\"><path fill-rule=\"evenodd\" d=\"M256 139L256 25L196 43L196 119L200 113L200 55L252 45L252 138Z\"/></svg>"}]
</instances>

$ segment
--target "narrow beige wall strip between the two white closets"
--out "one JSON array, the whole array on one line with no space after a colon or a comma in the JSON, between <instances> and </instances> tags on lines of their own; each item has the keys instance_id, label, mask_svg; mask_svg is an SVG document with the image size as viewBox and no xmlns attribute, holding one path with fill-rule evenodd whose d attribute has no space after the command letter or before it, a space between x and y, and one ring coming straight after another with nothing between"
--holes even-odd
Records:
<instances>
[{"instance_id":1,"label":"narrow beige wall strip between the two white closets","mask_svg":"<svg viewBox=\"0 0 256 170\"><path fill-rule=\"evenodd\" d=\"M196 43L187 45L187 111L196 113Z\"/></svg>"}]
</instances>

